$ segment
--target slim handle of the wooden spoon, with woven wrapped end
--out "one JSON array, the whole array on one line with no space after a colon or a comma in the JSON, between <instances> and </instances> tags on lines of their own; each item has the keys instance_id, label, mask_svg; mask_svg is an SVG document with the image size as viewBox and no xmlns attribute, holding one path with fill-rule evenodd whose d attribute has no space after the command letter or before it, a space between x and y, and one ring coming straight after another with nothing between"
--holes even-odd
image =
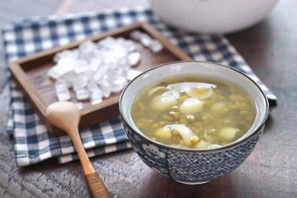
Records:
<instances>
[{"instance_id":1,"label":"slim handle of the wooden spoon, with woven wrapped end","mask_svg":"<svg viewBox=\"0 0 297 198\"><path fill-rule=\"evenodd\" d=\"M68 133L78 153L79 159L85 172L85 178L92 198L111 198L108 190L95 171L86 151L83 147L78 130L75 133Z\"/></svg>"}]
</instances>

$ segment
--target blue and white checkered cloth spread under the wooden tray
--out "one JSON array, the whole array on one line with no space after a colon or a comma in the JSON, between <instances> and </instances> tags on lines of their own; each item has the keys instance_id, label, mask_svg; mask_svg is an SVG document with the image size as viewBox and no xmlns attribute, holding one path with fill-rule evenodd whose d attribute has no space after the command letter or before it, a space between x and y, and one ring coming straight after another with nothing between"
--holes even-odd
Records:
<instances>
[{"instance_id":1,"label":"blue and white checkered cloth spread under the wooden tray","mask_svg":"<svg viewBox=\"0 0 297 198\"><path fill-rule=\"evenodd\" d=\"M10 62L37 51L142 21L148 21L193 59L218 62L245 72L264 90L270 105L276 105L276 97L251 71L225 37L190 34L168 27L157 19L150 9L143 7L68 14L63 17L33 17L16 21L2 31L6 59ZM26 166L54 156L58 157L60 163L78 159L70 138L51 135L13 82L10 91L11 112L7 132L13 133L17 164ZM120 117L81 130L80 136L89 156L131 148Z\"/></svg>"}]
</instances>

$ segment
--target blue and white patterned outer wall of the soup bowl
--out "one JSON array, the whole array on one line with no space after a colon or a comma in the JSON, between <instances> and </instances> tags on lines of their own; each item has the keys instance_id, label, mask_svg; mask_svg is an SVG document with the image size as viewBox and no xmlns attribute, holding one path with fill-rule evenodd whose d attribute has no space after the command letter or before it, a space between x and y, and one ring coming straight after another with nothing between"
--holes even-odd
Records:
<instances>
[{"instance_id":1,"label":"blue and white patterned outer wall of the soup bowl","mask_svg":"<svg viewBox=\"0 0 297 198\"><path fill-rule=\"evenodd\" d=\"M162 147L138 136L125 122L123 126L132 147L150 168L178 182L193 184L214 180L238 168L254 149L264 128L237 147L203 153Z\"/></svg>"}]
</instances>

